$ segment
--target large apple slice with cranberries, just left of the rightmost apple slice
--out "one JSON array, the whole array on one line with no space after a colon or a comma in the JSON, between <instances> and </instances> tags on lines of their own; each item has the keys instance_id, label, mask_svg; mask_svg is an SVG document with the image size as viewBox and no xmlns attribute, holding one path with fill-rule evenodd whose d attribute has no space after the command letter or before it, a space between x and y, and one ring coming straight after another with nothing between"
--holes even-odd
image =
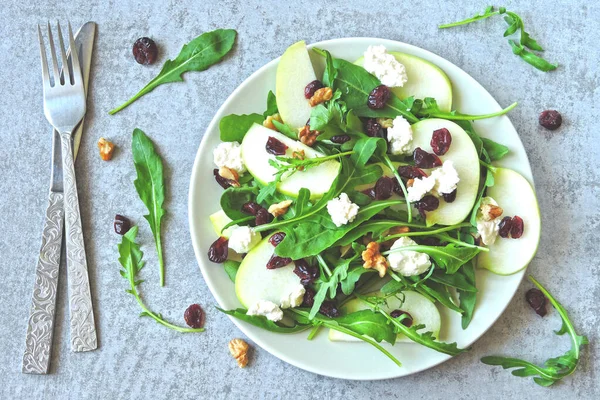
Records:
<instances>
[{"instance_id":1,"label":"large apple slice with cranberries, just left of the rightmost apple slice","mask_svg":"<svg viewBox=\"0 0 600 400\"><path fill-rule=\"evenodd\" d=\"M420 147L428 153L431 148L433 131L446 128L452 135L450 149L440 159L452 160L458 172L460 182L457 185L456 200L446 203L440 199L437 210L427 212L427 225L454 225L464 221L471 213L479 190L479 157L477 150L467 133L457 124L445 119L432 118L419 121L412 125L413 149Z\"/></svg>"}]
</instances>

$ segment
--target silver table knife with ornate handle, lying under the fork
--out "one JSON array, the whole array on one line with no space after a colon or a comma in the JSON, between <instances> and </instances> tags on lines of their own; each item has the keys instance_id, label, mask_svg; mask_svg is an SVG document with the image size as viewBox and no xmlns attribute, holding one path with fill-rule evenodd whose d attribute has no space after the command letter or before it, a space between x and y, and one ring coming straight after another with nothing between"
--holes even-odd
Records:
<instances>
[{"instance_id":1,"label":"silver table knife with ornate handle, lying under the fork","mask_svg":"<svg viewBox=\"0 0 600 400\"><path fill-rule=\"evenodd\" d=\"M87 96L90 65L94 46L96 24L85 23L75 35L75 44L80 49L79 60ZM73 134L74 156L77 156L83 121ZM35 284L31 300L31 311L27 324L25 352L23 354L22 372L28 374L47 374L50 366L56 294L58 289L58 270L62 248L64 225L64 197L62 177L62 157L60 137L56 131L52 133L52 174L50 192L46 208L42 246L36 267ZM94 347L96 336L94 331ZM92 350L92 349L90 349Z\"/></svg>"}]
</instances>

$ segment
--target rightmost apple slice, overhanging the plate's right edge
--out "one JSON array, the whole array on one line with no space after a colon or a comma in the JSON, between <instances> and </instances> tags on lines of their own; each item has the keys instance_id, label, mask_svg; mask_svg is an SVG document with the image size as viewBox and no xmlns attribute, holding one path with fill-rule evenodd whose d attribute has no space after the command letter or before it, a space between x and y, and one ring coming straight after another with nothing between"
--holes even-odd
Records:
<instances>
[{"instance_id":1,"label":"rightmost apple slice, overhanging the plate's right edge","mask_svg":"<svg viewBox=\"0 0 600 400\"><path fill-rule=\"evenodd\" d=\"M477 266L498 275L510 275L529 264L540 243L540 209L533 187L523 175L507 168L497 168L494 186L487 195L498 202L503 216L518 215L523 219L523 236L518 239L498 237L488 246L489 252L481 252Z\"/></svg>"}]
</instances>

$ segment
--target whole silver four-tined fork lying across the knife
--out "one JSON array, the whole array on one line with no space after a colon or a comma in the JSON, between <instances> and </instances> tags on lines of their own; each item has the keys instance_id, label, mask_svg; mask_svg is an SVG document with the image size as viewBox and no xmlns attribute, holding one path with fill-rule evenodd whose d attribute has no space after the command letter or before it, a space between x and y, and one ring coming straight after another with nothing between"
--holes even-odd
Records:
<instances>
[{"instance_id":1,"label":"whole silver four-tined fork lying across the knife","mask_svg":"<svg viewBox=\"0 0 600 400\"><path fill-rule=\"evenodd\" d=\"M40 55L42 59L42 80L44 86L44 114L48 122L60 135L63 164L63 185L65 205L65 238L67 248L67 273L69 286L69 308L71 311L71 350L89 351L98 347L90 281L87 270L79 198L73 161L72 133L85 115L85 91L79 64L78 52L71 24L69 23L69 46L71 64L67 61L63 35L57 24L58 41L62 56L63 75L58 70L58 60L48 23L48 42L52 55L52 78L46 59L46 49L42 30L38 25Z\"/></svg>"}]
</instances>

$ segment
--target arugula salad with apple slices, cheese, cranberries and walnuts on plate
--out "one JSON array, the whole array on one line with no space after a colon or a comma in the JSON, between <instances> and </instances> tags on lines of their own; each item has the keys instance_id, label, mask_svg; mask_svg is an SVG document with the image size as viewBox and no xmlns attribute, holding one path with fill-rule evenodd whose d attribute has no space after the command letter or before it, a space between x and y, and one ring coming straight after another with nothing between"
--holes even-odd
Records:
<instances>
[{"instance_id":1,"label":"arugula salad with apple slices, cheese, cranberries and walnuts on plate","mask_svg":"<svg viewBox=\"0 0 600 400\"><path fill-rule=\"evenodd\" d=\"M317 76L309 52L321 58ZM369 46L358 60L308 50L279 61L262 114L220 121L213 153L221 209L208 259L243 308L221 310L278 333L414 342L455 355L439 309L476 318L476 268L513 274L540 237L535 192L494 162L509 149L452 110L432 63Z\"/></svg>"}]
</instances>

